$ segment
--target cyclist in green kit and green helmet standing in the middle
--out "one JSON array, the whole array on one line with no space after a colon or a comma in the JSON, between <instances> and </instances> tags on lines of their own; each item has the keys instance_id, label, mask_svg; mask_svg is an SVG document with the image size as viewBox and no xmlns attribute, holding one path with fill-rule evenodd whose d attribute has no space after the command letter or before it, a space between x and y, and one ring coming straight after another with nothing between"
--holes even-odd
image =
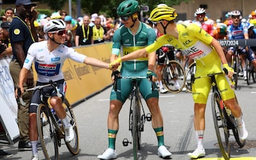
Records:
<instances>
[{"instance_id":1,"label":"cyclist in green kit and green helmet standing in the middle","mask_svg":"<svg viewBox=\"0 0 256 160\"><path fill-rule=\"evenodd\" d=\"M141 23L138 15L140 5L138 1L122 1L118 5L117 14L121 17L121 23L124 25L118 28L113 35L113 49L110 61L115 61L119 53L121 56L132 53L135 50L146 47L154 42L156 34L154 29L145 23ZM125 61L121 66L122 76L147 76L154 74L154 65L156 53L145 55L142 58L135 58L131 61ZM116 71L118 72L118 71ZM114 72L114 73L116 73ZM155 78L156 79L156 78ZM140 94L146 100L148 108L151 111L152 126L157 134L158 154L162 158L170 157L170 151L167 151L163 135L163 119L159 109L159 93L157 87L151 90L151 82L147 79L138 80ZM108 149L99 155L99 159L116 159L116 134L118 132L118 114L122 105L129 97L132 91L131 80L120 79L117 81L117 91L112 89L110 94L110 110L108 113Z\"/></svg>"}]
</instances>

